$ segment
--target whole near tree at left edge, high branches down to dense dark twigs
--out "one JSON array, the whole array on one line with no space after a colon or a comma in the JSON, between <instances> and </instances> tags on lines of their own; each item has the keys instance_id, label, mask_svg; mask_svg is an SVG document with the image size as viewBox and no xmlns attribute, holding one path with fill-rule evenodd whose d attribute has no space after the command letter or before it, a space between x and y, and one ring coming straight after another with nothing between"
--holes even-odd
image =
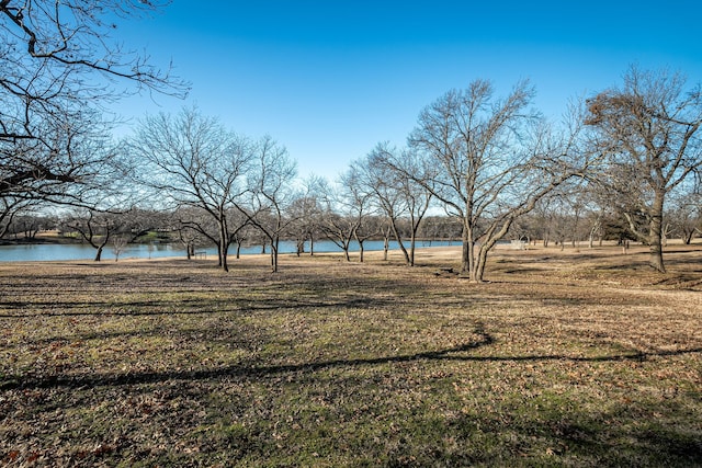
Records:
<instances>
[{"instance_id":1,"label":"whole near tree at left edge, high branches down to dense dark twigs","mask_svg":"<svg viewBox=\"0 0 702 468\"><path fill-rule=\"evenodd\" d=\"M64 202L64 186L92 171L70 144L101 125L104 104L143 89L184 95L184 83L113 36L121 20L166 3L0 0L0 197Z\"/></svg>"}]
</instances>

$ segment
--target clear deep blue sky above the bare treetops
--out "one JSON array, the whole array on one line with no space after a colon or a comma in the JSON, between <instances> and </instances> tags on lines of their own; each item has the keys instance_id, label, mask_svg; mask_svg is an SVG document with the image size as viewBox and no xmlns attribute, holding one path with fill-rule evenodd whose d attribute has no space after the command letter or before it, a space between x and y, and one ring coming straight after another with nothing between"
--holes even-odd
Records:
<instances>
[{"instance_id":1,"label":"clear deep blue sky above the bare treetops","mask_svg":"<svg viewBox=\"0 0 702 468\"><path fill-rule=\"evenodd\" d=\"M172 60L189 98L115 109L136 119L196 104L237 133L273 136L301 176L333 180L378 141L405 145L422 107L478 78L499 94L531 80L552 118L632 64L700 82L700 18L698 0L174 0L115 37Z\"/></svg>"}]
</instances>

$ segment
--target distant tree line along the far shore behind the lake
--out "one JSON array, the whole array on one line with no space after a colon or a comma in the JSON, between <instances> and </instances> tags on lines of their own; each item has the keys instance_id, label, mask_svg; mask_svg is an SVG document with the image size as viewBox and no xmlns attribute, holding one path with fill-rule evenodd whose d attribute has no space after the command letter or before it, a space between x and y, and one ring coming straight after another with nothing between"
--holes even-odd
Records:
<instances>
[{"instance_id":1,"label":"distant tree line along the far shore behind the lake","mask_svg":"<svg viewBox=\"0 0 702 468\"><path fill-rule=\"evenodd\" d=\"M699 198L693 195L692 198ZM295 220L287 224L287 229L282 232L281 239L294 241L297 246L297 255L314 255L317 241L331 241L343 250L346 259L352 261L351 242L356 240L346 235L350 230L343 227L352 227L353 219L344 219L338 213L327 213L326 220L321 213L312 215L316 201L312 198L297 198L291 207ZM678 205L680 203L680 205ZM675 206L665 216L663 244L676 239L683 244L690 244L694 239L702 237L702 203L690 203L687 199L675 199ZM305 206L303 206L305 205ZM505 241L520 242L524 248L529 246L565 248L593 248L600 247L604 241L625 244L627 241L637 242L636 236L631 232L629 221L611 207L595 205L571 206L568 201L550 199L541 204L532 213L520 217L510 228ZM302 217L297 217L303 215ZM236 216L236 215L234 215ZM239 229L231 236L228 246L229 255L238 259L241 248L261 247L261 252L270 251L269 239L253 225L241 220ZM378 214L367 214L362 220L364 229L370 236L361 236L365 240L383 240L389 249L389 242L397 236L403 240L398 247L407 250L410 255L409 241L412 233L416 240L452 240L462 238L462 221L446 215L426 216L417 227L410 218L395 219L395 228L390 220ZM643 224L643 220L642 220ZM216 225L207 221L205 213L196 209L177 210L148 210L132 208L120 213L100 213L88 209L70 209L60 216L47 216L41 212L24 213L13 217L11 222L2 226L2 242L38 242L37 233L42 231L56 231L59 240L80 242L92 246L95 249L95 260L102 258L105 249L117 251L122 244L145 243L172 243L180 244L188 258L194 256L196 251L218 244ZM231 250L234 249L234 250ZM265 250L263 250L265 249ZM386 251L387 252L387 251ZM387 256L386 256L387 259ZM408 264L412 261L407 260Z\"/></svg>"}]
</instances>

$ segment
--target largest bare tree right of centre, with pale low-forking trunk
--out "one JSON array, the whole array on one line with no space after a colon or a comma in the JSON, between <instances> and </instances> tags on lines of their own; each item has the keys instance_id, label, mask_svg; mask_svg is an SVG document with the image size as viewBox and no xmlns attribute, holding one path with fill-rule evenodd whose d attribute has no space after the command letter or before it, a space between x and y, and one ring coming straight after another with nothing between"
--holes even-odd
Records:
<instances>
[{"instance_id":1,"label":"largest bare tree right of centre, with pale low-forking trunk","mask_svg":"<svg viewBox=\"0 0 702 468\"><path fill-rule=\"evenodd\" d=\"M518 83L505 99L477 80L426 107L410 146L420 151L420 174L405 170L463 221L462 272L482 282L488 252L513 220L581 171L573 165L577 121L556 135L529 111L534 91Z\"/></svg>"}]
</instances>

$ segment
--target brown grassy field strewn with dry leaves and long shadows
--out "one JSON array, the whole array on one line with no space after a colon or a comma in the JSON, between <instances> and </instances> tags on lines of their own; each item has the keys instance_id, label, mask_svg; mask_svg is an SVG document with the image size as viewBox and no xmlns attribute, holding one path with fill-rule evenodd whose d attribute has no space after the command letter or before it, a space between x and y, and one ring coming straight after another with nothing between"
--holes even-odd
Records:
<instances>
[{"instance_id":1,"label":"brown grassy field strewn with dry leaves and long shadows","mask_svg":"<svg viewBox=\"0 0 702 468\"><path fill-rule=\"evenodd\" d=\"M702 248L0 263L0 465L702 466Z\"/></svg>"}]
</instances>

